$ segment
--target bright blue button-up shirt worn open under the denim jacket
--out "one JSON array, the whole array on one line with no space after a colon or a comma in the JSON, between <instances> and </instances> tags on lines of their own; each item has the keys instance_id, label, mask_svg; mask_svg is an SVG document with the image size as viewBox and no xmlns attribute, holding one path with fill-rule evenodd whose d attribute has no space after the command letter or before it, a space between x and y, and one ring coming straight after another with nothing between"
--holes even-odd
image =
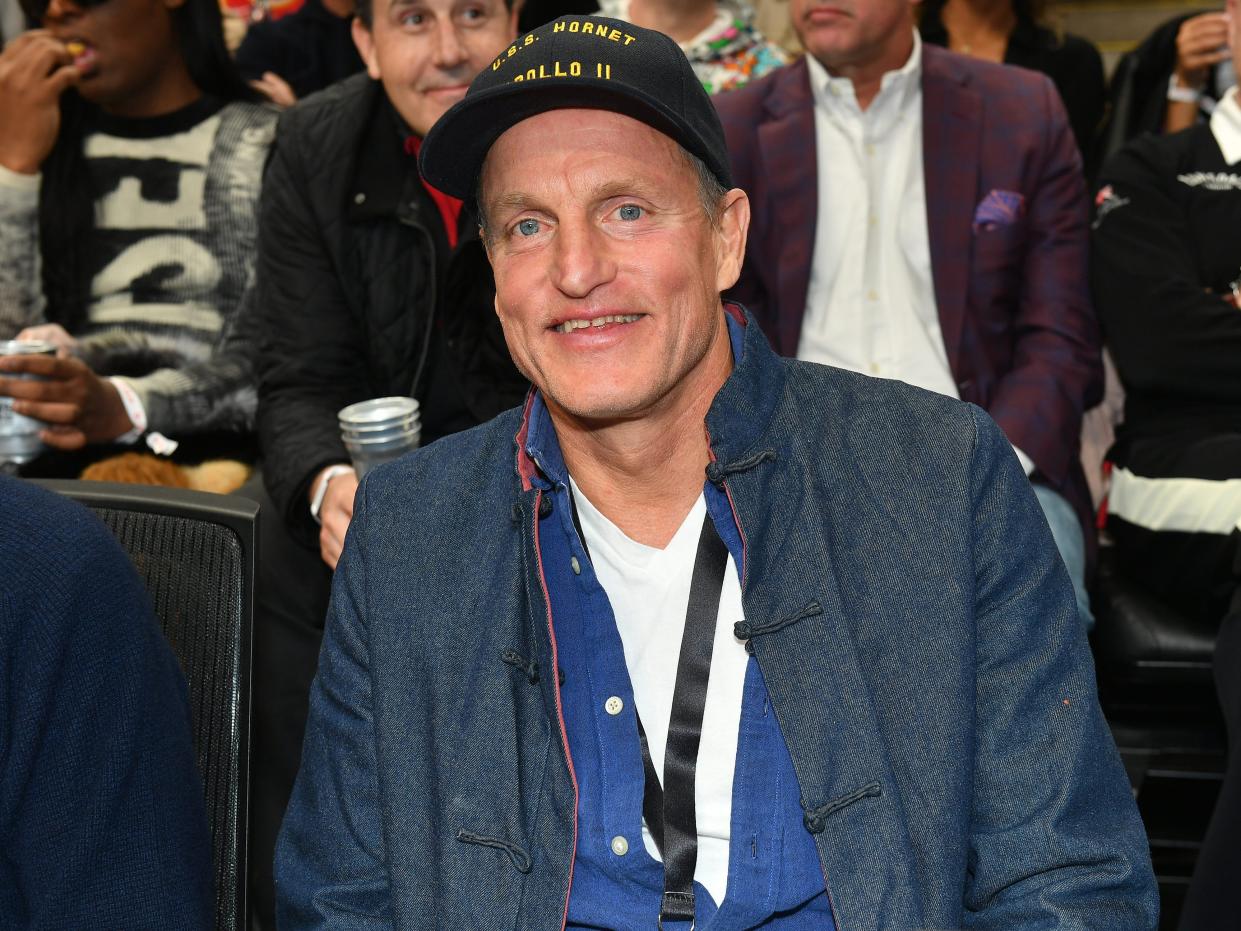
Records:
<instances>
[{"instance_id":1,"label":"bright blue button-up shirt worn open under the denim jacket","mask_svg":"<svg viewBox=\"0 0 1241 931\"><path fill-rule=\"evenodd\" d=\"M730 318L735 358L742 353L743 333ZM580 792L567 927L649 931L659 914L664 868L642 843L644 776L624 648L607 593L573 526L568 472L537 395L529 417L526 452L539 463L536 482L552 501L551 513L541 520L539 545L565 674L561 698ZM741 535L727 495L710 482L704 494L740 572ZM624 704L618 715L603 708L611 696ZM823 868L803 824L799 799L767 685L751 657L733 775L727 893L724 902L715 902L700 883L694 884L696 927L833 931ZM613 853L616 837L625 838L627 853Z\"/></svg>"}]
</instances>

